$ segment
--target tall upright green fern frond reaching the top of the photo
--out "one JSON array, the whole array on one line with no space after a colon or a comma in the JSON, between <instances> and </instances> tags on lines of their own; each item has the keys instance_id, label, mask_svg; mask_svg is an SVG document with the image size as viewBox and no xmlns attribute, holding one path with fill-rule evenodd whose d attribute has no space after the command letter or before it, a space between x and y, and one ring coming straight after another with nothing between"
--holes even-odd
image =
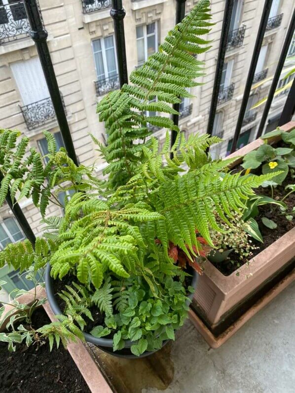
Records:
<instances>
[{"instance_id":1,"label":"tall upright green fern frond reaching the top of the photo","mask_svg":"<svg viewBox=\"0 0 295 393\"><path fill-rule=\"evenodd\" d=\"M186 88L197 86L199 83L194 79L204 75L203 63L190 53L202 53L210 48L209 41L198 37L209 32L204 28L211 25L204 22L211 18L208 7L208 0L200 0L182 23L169 32L159 52L131 73L133 85L111 92L98 104L97 111L100 120L105 121L108 135L108 146L100 148L110 164L104 173L110 174L113 187L126 183L134 175L136 164L143 159L144 147L149 147L149 141L146 142L149 124L179 131L163 114L178 113L171 105L180 103L179 97L192 97ZM158 115L146 116L147 110ZM134 144L135 139L143 142Z\"/></svg>"}]
</instances>

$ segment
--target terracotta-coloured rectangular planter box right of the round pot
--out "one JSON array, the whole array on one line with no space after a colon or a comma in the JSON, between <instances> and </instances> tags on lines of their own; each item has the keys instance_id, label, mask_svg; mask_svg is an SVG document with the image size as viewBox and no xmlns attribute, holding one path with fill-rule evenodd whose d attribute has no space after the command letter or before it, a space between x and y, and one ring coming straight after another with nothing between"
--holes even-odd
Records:
<instances>
[{"instance_id":1,"label":"terracotta-coloured rectangular planter box right of the round pot","mask_svg":"<svg viewBox=\"0 0 295 393\"><path fill-rule=\"evenodd\" d=\"M284 131L291 131L294 128L295 122L287 123L281 127ZM271 143L279 140L280 138L273 138ZM261 144L263 141L258 139L227 158L244 156L257 149ZM241 162L242 158L239 158L231 167L235 167ZM237 309L241 309L241 306L249 301L249 298L254 296L262 286L273 280L287 265L290 265L294 256L295 228L262 250L249 261L249 264L244 264L229 276L224 276L211 262L206 261L204 274L199 278L192 303L192 309L199 321L198 327L203 323L203 327L209 327L211 332L214 332L215 329L218 331L218 326L224 320L229 320L230 315ZM291 270L292 266L289 272ZM195 322L193 314L191 312L190 317ZM202 328L199 330L202 333Z\"/></svg>"}]
</instances>

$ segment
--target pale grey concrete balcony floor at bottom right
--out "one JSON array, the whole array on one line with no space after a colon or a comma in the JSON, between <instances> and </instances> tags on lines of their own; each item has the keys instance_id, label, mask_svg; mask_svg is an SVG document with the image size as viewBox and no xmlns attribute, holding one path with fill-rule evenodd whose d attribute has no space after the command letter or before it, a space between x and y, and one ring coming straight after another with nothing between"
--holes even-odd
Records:
<instances>
[{"instance_id":1,"label":"pale grey concrete balcony floor at bottom right","mask_svg":"<svg viewBox=\"0 0 295 393\"><path fill-rule=\"evenodd\" d=\"M293 393L294 337L295 282L219 349L186 322L172 347L172 383L142 393Z\"/></svg>"}]
</instances>

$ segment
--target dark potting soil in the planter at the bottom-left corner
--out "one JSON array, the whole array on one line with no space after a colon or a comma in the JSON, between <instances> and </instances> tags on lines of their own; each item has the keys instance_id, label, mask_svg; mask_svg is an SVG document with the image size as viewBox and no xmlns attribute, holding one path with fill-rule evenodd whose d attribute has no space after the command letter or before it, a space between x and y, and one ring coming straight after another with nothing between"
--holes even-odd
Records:
<instances>
[{"instance_id":1,"label":"dark potting soil in the planter at the bottom-left corner","mask_svg":"<svg viewBox=\"0 0 295 393\"><path fill-rule=\"evenodd\" d=\"M37 329L50 323L40 308L33 314ZM0 343L0 393L90 393L74 360L62 344L52 352L48 342L17 344L16 352L8 352L7 343Z\"/></svg>"}]
</instances>

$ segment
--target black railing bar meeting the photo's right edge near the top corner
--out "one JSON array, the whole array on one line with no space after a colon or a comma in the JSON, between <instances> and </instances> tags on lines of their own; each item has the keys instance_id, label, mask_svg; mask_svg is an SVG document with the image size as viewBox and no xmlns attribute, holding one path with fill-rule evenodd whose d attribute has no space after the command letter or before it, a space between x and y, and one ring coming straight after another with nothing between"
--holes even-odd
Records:
<instances>
[{"instance_id":1,"label":"black railing bar meeting the photo's right edge near the top corner","mask_svg":"<svg viewBox=\"0 0 295 393\"><path fill-rule=\"evenodd\" d=\"M265 122L266 122L266 119L267 119L267 116L268 116L268 112L269 112L269 109L270 109L270 106L271 106L271 103L272 103L272 99L273 99L273 96L274 96L274 93L275 93L275 90L276 90L276 87L277 87L277 84L278 84L278 81L279 81L282 69L284 67L284 63L285 63L285 60L286 60L286 57L287 57L287 54L288 54L288 50L289 50L290 44L291 44L292 39L293 39L294 29L295 29L295 9L293 11L292 19L291 19L291 22L290 22L290 25L289 25L289 28L288 28L288 31L287 31L287 34L286 34L286 37L285 37L285 41L284 41L283 48L282 48L282 51L281 51L281 54L280 54L278 65L277 65L276 71L274 73L274 76L273 76L273 79L272 79L272 83L271 83L271 86L270 86L270 89L269 89L269 92L268 92L267 100L266 100L266 103L265 103L265 106L264 106L264 110L263 110L263 113L262 113L262 116L261 116L261 120L260 120L260 124L259 124L259 127L258 127L258 132L257 132L256 138L259 138L261 136L262 131L264 129L264 125L265 125ZM292 98L292 96L291 96L291 98Z\"/></svg>"}]
</instances>

